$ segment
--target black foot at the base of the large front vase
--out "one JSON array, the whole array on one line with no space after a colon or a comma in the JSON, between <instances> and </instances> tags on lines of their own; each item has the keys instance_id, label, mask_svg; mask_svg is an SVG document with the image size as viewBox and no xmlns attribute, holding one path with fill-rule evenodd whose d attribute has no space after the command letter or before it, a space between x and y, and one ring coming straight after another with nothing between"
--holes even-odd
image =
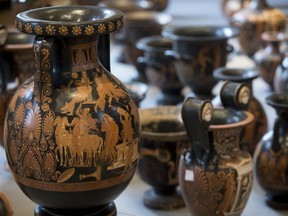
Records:
<instances>
[{"instance_id":1,"label":"black foot at the base of the large front vase","mask_svg":"<svg viewBox=\"0 0 288 216\"><path fill-rule=\"evenodd\" d=\"M116 216L116 205L114 202L93 209L63 209L54 210L47 209L40 205L36 205L34 216Z\"/></svg>"}]
</instances>

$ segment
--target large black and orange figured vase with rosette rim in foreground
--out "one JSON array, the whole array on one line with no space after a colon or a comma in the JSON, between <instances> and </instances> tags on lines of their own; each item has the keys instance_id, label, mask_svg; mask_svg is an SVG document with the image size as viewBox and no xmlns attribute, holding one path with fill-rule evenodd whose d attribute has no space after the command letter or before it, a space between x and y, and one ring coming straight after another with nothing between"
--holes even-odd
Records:
<instances>
[{"instance_id":1,"label":"large black and orange figured vase with rosette rim in foreground","mask_svg":"<svg viewBox=\"0 0 288 216\"><path fill-rule=\"evenodd\" d=\"M93 6L16 17L18 30L36 35L35 72L8 107L4 146L35 215L116 215L113 200L135 173L138 109L107 70L109 33L123 17Z\"/></svg>"}]
</instances>

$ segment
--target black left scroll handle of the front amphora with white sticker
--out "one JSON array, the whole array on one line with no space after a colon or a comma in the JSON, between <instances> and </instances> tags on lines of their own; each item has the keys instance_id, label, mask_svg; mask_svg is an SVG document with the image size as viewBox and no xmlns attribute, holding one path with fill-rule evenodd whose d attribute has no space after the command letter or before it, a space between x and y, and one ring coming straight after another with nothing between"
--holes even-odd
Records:
<instances>
[{"instance_id":1,"label":"black left scroll handle of the front amphora with white sticker","mask_svg":"<svg viewBox=\"0 0 288 216\"><path fill-rule=\"evenodd\" d=\"M208 126L212 118L211 102L189 97L182 106L182 119L190 141L192 157L206 166L211 152Z\"/></svg>"}]
</instances>

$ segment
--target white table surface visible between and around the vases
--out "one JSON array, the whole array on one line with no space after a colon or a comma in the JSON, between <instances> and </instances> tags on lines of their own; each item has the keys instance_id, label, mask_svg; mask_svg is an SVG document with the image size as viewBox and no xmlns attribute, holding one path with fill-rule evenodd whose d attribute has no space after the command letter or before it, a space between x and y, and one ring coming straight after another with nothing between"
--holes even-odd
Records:
<instances>
[{"instance_id":1,"label":"white table surface visible between and around the vases","mask_svg":"<svg viewBox=\"0 0 288 216\"><path fill-rule=\"evenodd\" d=\"M218 0L170 0L167 13L173 16L173 25L217 25L225 24L226 20L220 11ZM231 40L232 44L237 45L237 40ZM234 47L235 48L235 47ZM111 71L122 81L129 81L136 76L135 68L132 65L120 64L115 62L120 48L111 46ZM231 56L227 66L254 67L254 63L244 55ZM220 84L219 84L220 85ZM218 85L218 86L219 86ZM219 89L218 86L215 88ZM265 107L266 113L269 113L269 129L272 128L275 112L265 104L265 97L271 93L269 87L261 78L257 78L254 83L254 95ZM189 89L186 89L189 92ZM157 87L150 86L147 97L141 103L141 107L156 106L155 95L159 93ZM136 174L127 187L127 189L115 200L118 215L131 216L188 216L190 213L186 208L175 211L155 211L146 208L142 202L143 193L150 188ZM30 201L18 188L11 173L5 166L4 149L0 146L0 192L7 195L12 205L14 216L33 215L35 204ZM248 204L242 215L244 216L280 216L288 215L288 211L276 211L265 205L265 192L257 185L254 180L253 190Z\"/></svg>"}]
</instances>

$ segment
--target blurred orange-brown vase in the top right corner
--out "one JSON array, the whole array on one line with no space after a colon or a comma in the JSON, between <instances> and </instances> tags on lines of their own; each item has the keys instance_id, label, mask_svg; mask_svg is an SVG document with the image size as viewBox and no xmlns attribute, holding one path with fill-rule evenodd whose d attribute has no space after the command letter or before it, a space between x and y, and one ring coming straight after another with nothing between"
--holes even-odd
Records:
<instances>
[{"instance_id":1,"label":"blurred orange-brown vase in the top right corner","mask_svg":"<svg viewBox=\"0 0 288 216\"><path fill-rule=\"evenodd\" d=\"M230 24L240 29L239 43L244 53L253 56L262 48L263 32L285 32L286 15L280 9L269 6L266 0L252 0L249 7L230 18Z\"/></svg>"}]
</instances>

